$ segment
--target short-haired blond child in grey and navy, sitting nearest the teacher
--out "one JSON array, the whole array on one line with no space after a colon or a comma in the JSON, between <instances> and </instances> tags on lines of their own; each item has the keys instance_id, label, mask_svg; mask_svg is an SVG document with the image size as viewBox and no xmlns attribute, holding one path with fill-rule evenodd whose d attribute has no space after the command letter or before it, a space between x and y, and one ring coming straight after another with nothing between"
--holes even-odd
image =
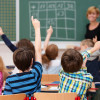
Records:
<instances>
[{"instance_id":1,"label":"short-haired blond child in grey and navy, sitting nearest the teacher","mask_svg":"<svg viewBox=\"0 0 100 100\"><path fill-rule=\"evenodd\" d=\"M85 39L81 42L81 52L89 50L93 46L94 42L91 39ZM90 55L86 63L87 72L92 74L93 82L100 82L100 61L98 61L99 56L100 51L98 50Z\"/></svg>"}]
</instances>

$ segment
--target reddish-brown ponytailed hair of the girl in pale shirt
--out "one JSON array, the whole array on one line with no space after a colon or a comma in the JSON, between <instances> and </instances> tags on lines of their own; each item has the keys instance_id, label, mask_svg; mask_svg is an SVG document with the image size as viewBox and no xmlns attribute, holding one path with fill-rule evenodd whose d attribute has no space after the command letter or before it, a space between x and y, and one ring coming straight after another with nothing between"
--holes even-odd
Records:
<instances>
[{"instance_id":1,"label":"reddish-brown ponytailed hair of the girl in pale shirt","mask_svg":"<svg viewBox=\"0 0 100 100\"><path fill-rule=\"evenodd\" d=\"M58 47L55 44L51 44L47 47L45 54L42 55L42 63L49 65L50 61L56 59L57 56Z\"/></svg>"}]
</instances>

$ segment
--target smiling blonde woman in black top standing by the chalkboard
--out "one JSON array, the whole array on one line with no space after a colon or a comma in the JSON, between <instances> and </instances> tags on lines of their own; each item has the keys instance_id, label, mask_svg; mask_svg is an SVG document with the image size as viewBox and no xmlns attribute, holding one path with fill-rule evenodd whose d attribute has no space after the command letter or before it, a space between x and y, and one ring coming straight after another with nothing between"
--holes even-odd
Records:
<instances>
[{"instance_id":1,"label":"smiling blonde woman in black top standing by the chalkboard","mask_svg":"<svg viewBox=\"0 0 100 100\"><path fill-rule=\"evenodd\" d=\"M97 21L97 18L100 15L98 8L91 6L87 10L87 19L89 24L86 25L86 39L92 39L93 42L100 41L100 22Z\"/></svg>"}]
</instances>

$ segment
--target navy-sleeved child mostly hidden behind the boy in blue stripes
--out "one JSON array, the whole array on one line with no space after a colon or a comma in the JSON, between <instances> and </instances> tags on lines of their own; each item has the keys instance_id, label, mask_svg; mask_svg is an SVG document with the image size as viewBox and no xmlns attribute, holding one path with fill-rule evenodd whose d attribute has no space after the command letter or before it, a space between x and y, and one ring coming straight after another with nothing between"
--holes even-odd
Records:
<instances>
[{"instance_id":1,"label":"navy-sleeved child mostly hidden behind the boy in blue stripes","mask_svg":"<svg viewBox=\"0 0 100 100\"><path fill-rule=\"evenodd\" d=\"M32 42L28 39L21 39L16 46L13 45L11 43L11 41L7 38L7 36L4 34L2 28L0 27L0 35L1 38L3 39L3 41L5 42L5 44L9 47L9 49L14 52L16 49L18 48L23 48L23 47L27 47L30 50L32 50L32 52L35 54L35 48L34 45L32 44ZM35 58L34 58L35 59ZM17 69L17 67L15 67L15 69L12 71L12 74L18 73L19 70Z\"/></svg>"}]
</instances>

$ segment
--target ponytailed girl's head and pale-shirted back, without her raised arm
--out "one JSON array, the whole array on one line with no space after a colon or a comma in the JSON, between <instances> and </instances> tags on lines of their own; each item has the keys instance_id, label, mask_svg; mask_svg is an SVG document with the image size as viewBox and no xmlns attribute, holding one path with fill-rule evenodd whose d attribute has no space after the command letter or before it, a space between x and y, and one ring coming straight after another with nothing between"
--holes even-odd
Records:
<instances>
[{"instance_id":1,"label":"ponytailed girl's head and pale-shirted back, without her raised arm","mask_svg":"<svg viewBox=\"0 0 100 100\"><path fill-rule=\"evenodd\" d=\"M58 56L58 47L55 44L47 46L45 54L42 55L43 74L58 74L61 70Z\"/></svg>"}]
</instances>

